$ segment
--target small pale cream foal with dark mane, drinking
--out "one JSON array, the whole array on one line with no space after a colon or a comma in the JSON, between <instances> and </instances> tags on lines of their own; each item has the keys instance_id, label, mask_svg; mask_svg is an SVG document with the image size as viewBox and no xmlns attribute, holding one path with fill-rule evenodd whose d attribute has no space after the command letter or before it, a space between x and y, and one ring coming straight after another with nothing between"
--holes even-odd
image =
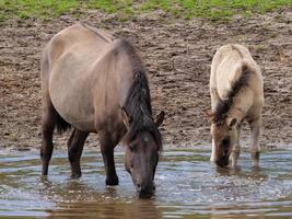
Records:
<instances>
[{"instance_id":1,"label":"small pale cream foal with dark mane, drinking","mask_svg":"<svg viewBox=\"0 0 292 219\"><path fill-rule=\"evenodd\" d=\"M264 104L262 77L248 49L225 45L215 53L210 77L212 154L220 166L235 166L241 153L240 131L244 119L252 130L250 153L259 162L259 131Z\"/></svg>"}]
</instances>

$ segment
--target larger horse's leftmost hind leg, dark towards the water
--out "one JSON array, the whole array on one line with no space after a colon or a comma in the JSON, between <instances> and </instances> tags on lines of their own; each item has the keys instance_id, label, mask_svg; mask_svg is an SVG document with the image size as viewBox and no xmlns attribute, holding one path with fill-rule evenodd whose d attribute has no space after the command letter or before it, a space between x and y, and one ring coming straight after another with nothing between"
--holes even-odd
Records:
<instances>
[{"instance_id":1,"label":"larger horse's leftmost hind leg, dark towards the water","mask_svg":"<svg viewBox=\"0 0 292 219\"><path fill-rule=\"evenodd\" d=\"M50 101L43 101L40 158L43 162L43 175L48 174L48 165L54 150L52 132L57 119L57 112Z\"/></svg>"}]
</instances>

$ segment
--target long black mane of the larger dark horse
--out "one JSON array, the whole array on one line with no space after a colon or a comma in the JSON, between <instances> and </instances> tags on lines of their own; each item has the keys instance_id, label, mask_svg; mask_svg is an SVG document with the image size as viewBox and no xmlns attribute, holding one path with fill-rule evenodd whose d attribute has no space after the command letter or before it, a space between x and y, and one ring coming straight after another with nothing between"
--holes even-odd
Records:
<instances>
[{"instance_id":1,"label":"long black mane of the larger dark horse","mask_svg":"<svg viewBox=\"0 0 292 219\"><path fill-rule=\"evenodd\" d=\"M128 41L120 39L120 48L128 55L133 71L132 84L128 91L128 96L124 105L130 123L127 139L130 141L140 132L149 131L161 150L161 134L152 118L151 96L145 68L133 46Z\"/></svg>"}]
</instances>

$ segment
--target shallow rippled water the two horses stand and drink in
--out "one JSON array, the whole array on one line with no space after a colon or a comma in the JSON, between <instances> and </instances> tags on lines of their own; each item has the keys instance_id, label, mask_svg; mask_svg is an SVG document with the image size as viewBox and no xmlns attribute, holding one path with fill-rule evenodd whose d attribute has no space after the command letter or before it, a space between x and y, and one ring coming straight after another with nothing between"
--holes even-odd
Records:
<instances>
[{"instance_id":1,"label":"shallow rippled water the two horses stand and drink in","mask_svg":"<svg viewBox=\"0 0 292 219\"><path fill-rule=\"evenodd\" d=\"M105 186L101 154L85 151L83 176L70 180L66 151L56 151L48 177L40 177L37 151L0 151L0 217L48 218L262 218L292 217L292 151L261 153L260 170L243 152L237 170L219 170L210 151L166 150L156 193L138 199L116 152L120 184Z\"/></svg>"}]
</instances>

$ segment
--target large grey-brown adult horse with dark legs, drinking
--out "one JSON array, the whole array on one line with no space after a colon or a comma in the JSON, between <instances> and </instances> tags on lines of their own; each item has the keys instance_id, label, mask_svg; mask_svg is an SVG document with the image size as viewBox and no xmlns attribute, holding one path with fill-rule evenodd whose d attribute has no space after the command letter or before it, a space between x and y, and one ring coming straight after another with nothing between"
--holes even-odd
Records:
<instances>
[{"instance_id":1,"label":"large grey-brown adult horse with dark legs, drinking","mask_svg":"<svg viewBox=\"0 0 292 219\"><path fill-rule=\"evenodd\" d=\"M145 69L126 39L83 24L55 35L40 64L43 93L43 175L52 153L52 134L73 127L68 140L72 177L81 176L80 158L90 132L98 132L106 185L117 185L114 148L126 145L125 166L140 196L154 191L154 174L162 150L154 122Z\"/></svg>"}]
</instances>

